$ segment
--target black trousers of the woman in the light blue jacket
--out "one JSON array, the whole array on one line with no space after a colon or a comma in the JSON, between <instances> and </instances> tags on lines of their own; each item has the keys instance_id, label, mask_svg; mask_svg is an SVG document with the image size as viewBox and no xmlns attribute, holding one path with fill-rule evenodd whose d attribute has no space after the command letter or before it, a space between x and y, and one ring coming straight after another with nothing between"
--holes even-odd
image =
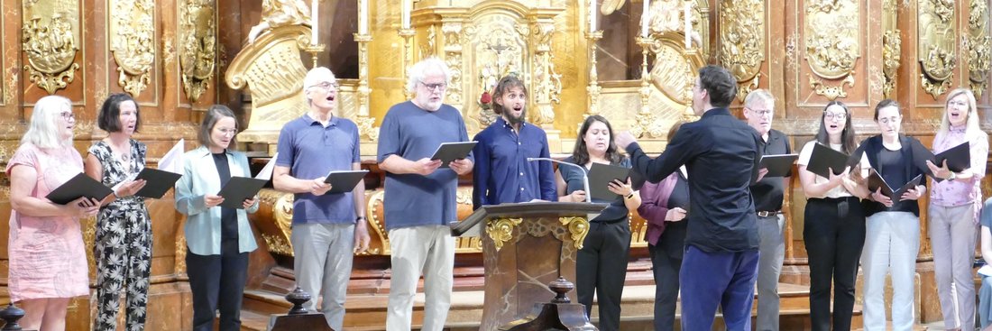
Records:
<instances>
[{"instance_id":1,"label":"black trousers of the woman in the light blue jacket","mask_svg":"<svg viewBox=\"0 0 992 331\"><path fill-rule=\"evenodd\" d=\"M186 274L192 292L193 331L213 330L217 310L221 331L240 330L248 253L238 252L237 238L222 240L220 255L195 255L186 248Z\"/></svg>"}]
</instances>

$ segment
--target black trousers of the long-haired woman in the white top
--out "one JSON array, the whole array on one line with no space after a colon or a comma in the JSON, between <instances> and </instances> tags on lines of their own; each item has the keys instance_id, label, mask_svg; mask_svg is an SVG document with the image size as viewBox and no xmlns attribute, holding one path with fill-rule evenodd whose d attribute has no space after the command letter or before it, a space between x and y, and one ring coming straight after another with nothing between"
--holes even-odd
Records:
<instances>
[{"instance_id":1,"label":"black trousers of the long-haired woman in the white top","mask_svg":"<svg viewBox=\"0 0 992 331\"><path fill-rule=\"evenodd\" d=\"M865 216L857 197L806 200L803 240L809 257L812 330L850 330L854 280L865 243ZM832 280L832 281L831 281ZM833 316L830 316L830 287Z\"/></svg>"}]
</instances>

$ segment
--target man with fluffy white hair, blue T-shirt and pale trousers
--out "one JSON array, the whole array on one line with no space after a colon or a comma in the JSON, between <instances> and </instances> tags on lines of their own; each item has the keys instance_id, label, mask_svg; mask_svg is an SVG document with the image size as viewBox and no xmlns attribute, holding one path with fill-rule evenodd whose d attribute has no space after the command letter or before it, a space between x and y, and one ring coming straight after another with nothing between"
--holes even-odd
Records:
<instances>
[{"instance_id":1,"label":"man with fluffy white hair, blue T-shirt and pale trousers","mask_svg":"<svg viewBox=\"0 0 992 331\"><path fill-rule=\"evenodd\" d=\"M386 171L383 198L392 251L386 330L410 331L417 280L424 273L424 331L440 331L451 306L454 238L448 224L457 221L458 175L472 170L473 160L432 161L441 143L468 141L461 113L443 104L451 73L436 57L410 68L407 89L413 100L389 109L379 130L379 167Z\"/></svg>"}]
</instances>

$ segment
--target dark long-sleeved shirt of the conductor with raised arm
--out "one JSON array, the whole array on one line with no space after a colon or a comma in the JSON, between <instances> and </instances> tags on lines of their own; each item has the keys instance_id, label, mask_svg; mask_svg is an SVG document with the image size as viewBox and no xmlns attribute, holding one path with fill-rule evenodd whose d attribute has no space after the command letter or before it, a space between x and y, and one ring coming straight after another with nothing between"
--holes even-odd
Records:
<instances>
[{"instance_id":1,"label":"dark long-sleeved shirt of the conductor with raised arm","mask_svg":"<svg viewBox=\"0 0 992 331\"><path fill-rule=\"evenodd\" d=\"M704 252L758 250L757 215L750 186L758 177L758 132L725 108L707 110L682 125L665 152L652 160L637 144L627 147L634 169L658 182L685 165L689 210L685 245Z\"/></svg>"}]
</instances>

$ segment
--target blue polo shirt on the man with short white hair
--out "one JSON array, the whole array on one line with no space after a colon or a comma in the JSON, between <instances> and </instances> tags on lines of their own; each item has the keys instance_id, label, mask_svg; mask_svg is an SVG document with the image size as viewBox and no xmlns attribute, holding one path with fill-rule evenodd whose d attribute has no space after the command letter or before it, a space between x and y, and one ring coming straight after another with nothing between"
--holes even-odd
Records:
<instances>
[{"instance_id":1,"label":"blue polo shirt on the man with short white hair","mask_svg":"<svg viewBox=\"0 0 992 331\"><path fill-rule=\"evenodd\" d=\"M353 164L361 162L359 142L354 122L335 116L324 127L305 114L286 123L279 133L276 165L290 167L290 175L300 179L322 177L331 170L351 170ZM293 224L355 222L351 191L294 196Z\"/></svg>"}]
</instances>

